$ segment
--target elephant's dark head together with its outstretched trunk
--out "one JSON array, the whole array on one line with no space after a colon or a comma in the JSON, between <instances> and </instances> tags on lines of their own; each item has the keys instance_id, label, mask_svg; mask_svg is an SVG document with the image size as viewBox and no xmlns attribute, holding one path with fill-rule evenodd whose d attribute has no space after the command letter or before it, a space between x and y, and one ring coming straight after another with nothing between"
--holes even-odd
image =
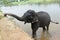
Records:
<instances>
[{"instance_id":1,"label":"elephant's dark head together with its outstretched trunk","mask_svg":"<svg viewBox=\"0 0 60 40\"><path fill-rule=\"evenodd\" d=\"M28 10L24 13L22 17L19 17L17 15L11 14L11 13L5 13L4 16L10 15L12 17L15 17L19 21L24 21L25 23L34 23L38 21L36 12L34 10Z\"/></svg>"}]
</instances>

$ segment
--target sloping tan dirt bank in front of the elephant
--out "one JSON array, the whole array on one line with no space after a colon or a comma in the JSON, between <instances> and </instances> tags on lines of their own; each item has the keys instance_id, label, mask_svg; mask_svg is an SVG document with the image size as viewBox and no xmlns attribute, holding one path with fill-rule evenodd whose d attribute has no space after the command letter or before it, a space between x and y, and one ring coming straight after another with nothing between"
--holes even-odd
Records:
<instances>
[{"instance_id":1,"label":"sloping tan dirt bank in front of the elephant","mask_svg":"<svg viewBox=\"0 0 60 40\"><path fill-rule=\"evenodd\" d=\"M0 19L0 40L33 40L8 18Z\"/></svg>"}]
</instances>

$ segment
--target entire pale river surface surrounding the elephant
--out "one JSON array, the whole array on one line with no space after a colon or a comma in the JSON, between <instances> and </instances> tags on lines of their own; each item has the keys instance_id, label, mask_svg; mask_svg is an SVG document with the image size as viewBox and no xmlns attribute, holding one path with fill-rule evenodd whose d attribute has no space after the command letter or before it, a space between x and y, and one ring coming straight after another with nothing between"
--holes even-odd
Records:
<instances>
[{"instance_id":1,"label":"entire pale river surface surrounding the elephant","mask_svg":"<svg viewBox=\"0 0 60 40\"><path fill-rule=\"evenodd\" d=\"M27 4L27 5L19 5L19 6L8 6L1 7L3 13L13 13L18 16L22 16L27 10L32 9L35 12L45 11L48 12L51 16L51 20L57 21L60 23L60 6L59 4L48 4L48 5L37 5L37 4ZM31 24L18 21L14 19L15 23L22 28L25 32L27 32L30 36L32 36ZM37 40L60 40L60 24L50 23L49 32L43 33L42 28L37 30Z\"/></svg>"}]
</instances>

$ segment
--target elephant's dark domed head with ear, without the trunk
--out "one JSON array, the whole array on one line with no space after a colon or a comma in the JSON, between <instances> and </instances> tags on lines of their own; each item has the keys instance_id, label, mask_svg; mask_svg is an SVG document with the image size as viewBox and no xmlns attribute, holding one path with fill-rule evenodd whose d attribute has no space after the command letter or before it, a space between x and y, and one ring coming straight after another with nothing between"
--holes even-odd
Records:
<instances>
[{"instance_id":1,"label":"elephant's dark domed head with ear, without the trunk","mask_svg":"<svg viewBox=\"0 0 60 40\"><path fill-rule=\"evenodd\" d=\"M36 12L34 10L28 10L22 16L25 19L25 23L34 23L38 21Z\"/></svg>"}]
</instances>

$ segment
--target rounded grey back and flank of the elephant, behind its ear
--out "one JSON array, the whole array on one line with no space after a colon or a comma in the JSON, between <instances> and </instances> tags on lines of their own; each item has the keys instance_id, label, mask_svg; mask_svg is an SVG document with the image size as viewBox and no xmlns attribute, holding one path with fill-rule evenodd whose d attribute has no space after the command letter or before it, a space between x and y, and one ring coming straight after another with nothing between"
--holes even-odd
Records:
<instances>
[{"instance_id":1,"label":"rounded grey back and flank of the elephant, behind its ear","mask_svg":"<svg viewBox=\"0 0 60 40\"><path fill-rule=\"evenodd\" d=\"M51 21L50 15L47 12L37 12L37 16L41 23L48 24Z\"/></svg>"}]
</instances>

